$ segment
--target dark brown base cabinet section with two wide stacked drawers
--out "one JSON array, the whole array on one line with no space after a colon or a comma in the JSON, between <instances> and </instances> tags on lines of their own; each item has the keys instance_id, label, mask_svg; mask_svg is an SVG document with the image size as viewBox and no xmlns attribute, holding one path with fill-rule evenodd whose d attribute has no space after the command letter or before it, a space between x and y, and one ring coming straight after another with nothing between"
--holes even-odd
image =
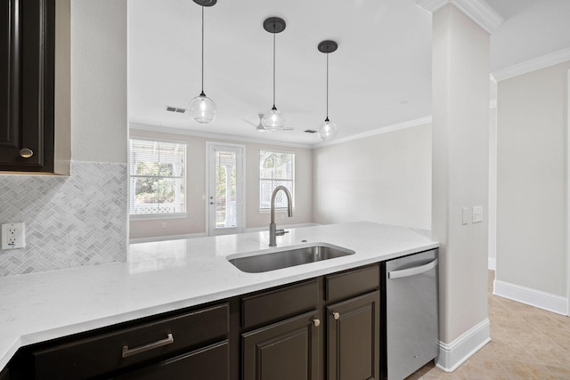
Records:
<instances>
[{"instance_id":1,"label":"dark brown base cabinet section with two wide stacked drawers","mask_svg":"<svg viewBox=\"0 0 570 380\"><path fill-rule=\"evenodd\" d=\"M38 348L33 378L228 379L229 314L223 303Z\"/></svg>"}]
</instances>

